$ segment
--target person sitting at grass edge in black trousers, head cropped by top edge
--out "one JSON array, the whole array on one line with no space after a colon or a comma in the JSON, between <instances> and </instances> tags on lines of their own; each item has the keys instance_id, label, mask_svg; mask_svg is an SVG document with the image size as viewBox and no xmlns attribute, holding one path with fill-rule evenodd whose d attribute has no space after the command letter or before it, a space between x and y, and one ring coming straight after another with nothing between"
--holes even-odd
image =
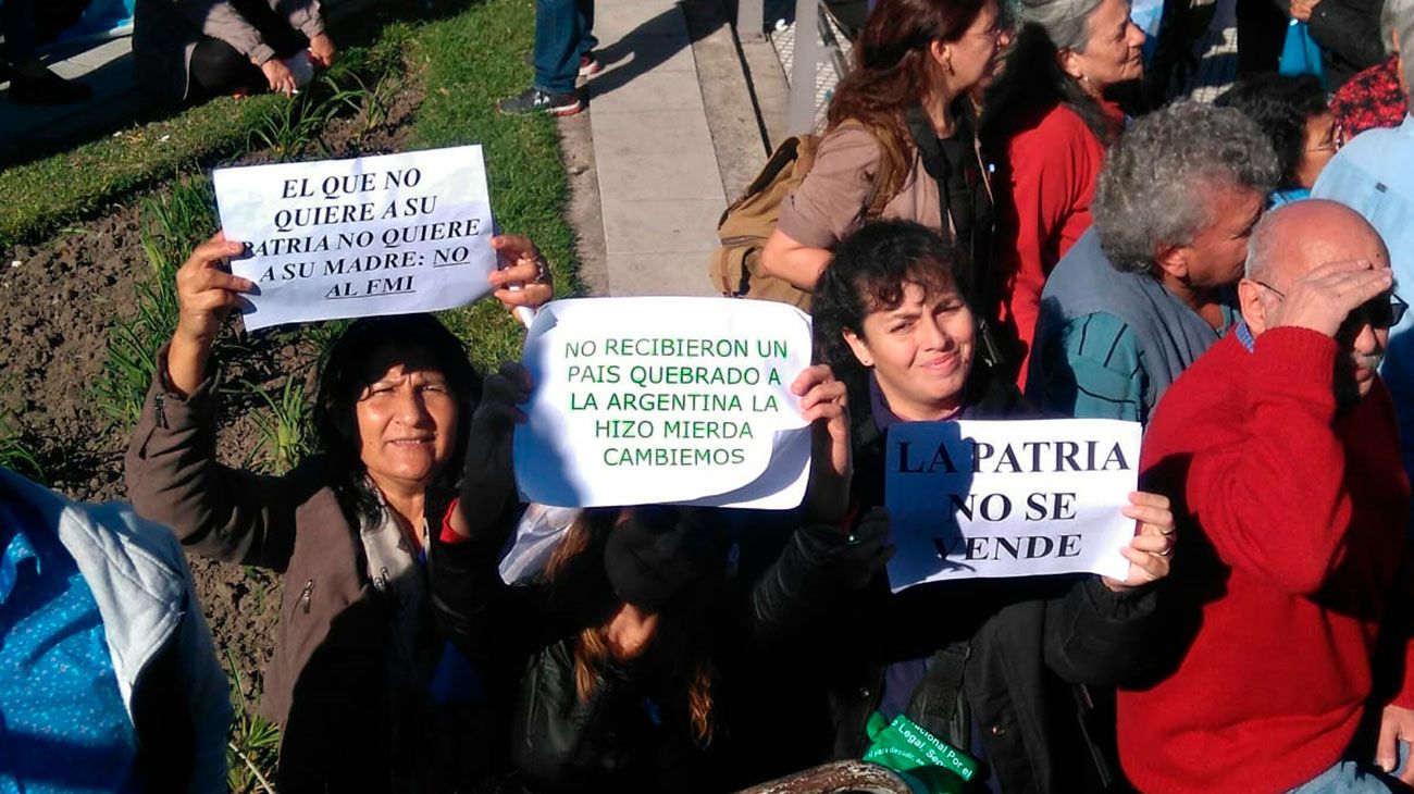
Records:
<instances>
[{"instance_id":1,"label":"person sitting at grass edge in black trousers, head cropped by top edge","mask_svg":"<svg viewBox=\"0 0 1414 794\"><path fill-rule=\"evenodd\" d=\"M318 0L137 0L137 81L170 103L266 89L291 96L308 82L297 58L329 66L334 54Z\"/></svg>"}]
</instances>

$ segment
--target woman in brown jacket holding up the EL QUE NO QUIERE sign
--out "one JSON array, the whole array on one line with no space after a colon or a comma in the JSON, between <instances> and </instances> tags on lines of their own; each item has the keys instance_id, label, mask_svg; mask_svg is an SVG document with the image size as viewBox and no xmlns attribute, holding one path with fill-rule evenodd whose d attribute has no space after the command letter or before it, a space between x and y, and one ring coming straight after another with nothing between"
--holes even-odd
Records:
<instances>
[{"instance_id":1,"label":"woman in brown jacket holding up the EL QUE NO QUIERE sign","mask_svg":"<svg viewBox=\"0 0 1414 794\"><path fill-rule=\"evenodd\" d=\"M550 298L523 237L495 237L508 305ZM467 455L461 421L481 379L430 315L354 322L322 362L322 455L283 476L216 461L212 340L253 284L222 268L216 235L177 273L180 318L157 355L126 459L134 509L195 552L283 574L263 713L283 728L281 791L447 791L430 694L444 644L426 603L427 527L441 526ZM526 283L510 292L503 287ZM464 749L462 752L467 752Z\"/></svg>"}]
</instances>

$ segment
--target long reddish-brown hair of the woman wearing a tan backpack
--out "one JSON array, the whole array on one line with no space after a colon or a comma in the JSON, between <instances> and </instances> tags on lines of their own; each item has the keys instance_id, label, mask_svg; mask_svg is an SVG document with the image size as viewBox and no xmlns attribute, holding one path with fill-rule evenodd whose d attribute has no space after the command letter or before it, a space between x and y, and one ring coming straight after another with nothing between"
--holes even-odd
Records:
<instances>
[{"instance_id":1,"label":"long reddish-brown hair of the woman wearing a tan backpack","mask_svg":"<svg viewBox=\"0 0 1414 794\"><path fill-rule=\"evenodd\" d=\"M904 112L923 100L932 82L928 47L957 41L987 0L880 0L854 41L853 69L834 89L830 127L854 119L909 144ZM906 164L898 164L905 170Z\"/></svg>"}]
</instances>

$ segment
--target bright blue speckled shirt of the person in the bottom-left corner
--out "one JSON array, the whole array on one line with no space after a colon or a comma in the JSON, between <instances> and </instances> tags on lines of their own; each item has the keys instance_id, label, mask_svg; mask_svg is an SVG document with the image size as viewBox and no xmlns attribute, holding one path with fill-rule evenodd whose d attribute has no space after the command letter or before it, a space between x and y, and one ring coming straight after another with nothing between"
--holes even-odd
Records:
<instances>
[{"instance_id":1,"label":"bright blue speckled shirt of the person in the bottom-left corner","mask_svg":"<svg viewBox=\"0 0 1414 794\"><path fill-rule=\"evenodd\" d=\"M136 757L93 592L0 494L0 794L130 791Z\"/></svg>"}]
</instances>

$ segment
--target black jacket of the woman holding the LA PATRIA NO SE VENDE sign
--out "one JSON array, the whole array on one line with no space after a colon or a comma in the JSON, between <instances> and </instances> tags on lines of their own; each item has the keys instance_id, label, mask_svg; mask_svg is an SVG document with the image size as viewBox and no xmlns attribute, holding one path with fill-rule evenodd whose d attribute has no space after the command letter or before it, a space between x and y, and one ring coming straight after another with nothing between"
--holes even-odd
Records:
<instances>
[{"instance_id":1,"label":"black jacket of the woman holding the LA PATRIA NO SE VENDE sign","mask_svg":"<svg viewBox=\"0 0 1414 794\"><path fill-rule=\"evenodd\" d=\"M863 407L854 421L854 490L867 509L884 502L884 437L868 414L868 396L851 394L850 403ZM966 405L967 418L1034 415L984 369L974 370ZM834 533L836 544L840 535ZM803 540L797 533L796 543ZM829 543L820 530L810 540ZM864 725L880 705L887 667L929 657L930 674L912 694L911 716L963 749L980 733L1003 791L1106 784L1109 770L1097 771L1096 763L1104 753L1077 723L1076 698L1085 691L1068 684L1110 687L1143 670L1157 629L1152 591L1121 595L1096 576L1051 576L921 585L892 595L877 576L848 593L831 591L820 567L793 567L789 552L754 599L756 619L793 641L802 633L789 626L814 629L816 658L833 661L836 757L860 757L867 746ZM949 670L960 675L952 691Z\"/></svg>"}]
</instances>

